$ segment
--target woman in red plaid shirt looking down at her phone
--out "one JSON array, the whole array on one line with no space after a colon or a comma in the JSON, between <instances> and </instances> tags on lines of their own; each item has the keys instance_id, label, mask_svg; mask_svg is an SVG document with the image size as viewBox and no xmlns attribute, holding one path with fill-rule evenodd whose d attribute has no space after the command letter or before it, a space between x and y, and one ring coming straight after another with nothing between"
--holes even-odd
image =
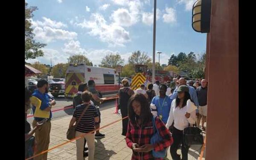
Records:
<instances>
[{"instance_id":1,"label":"woman in red plaid shirt looking down at her phone","mask_svg":"<svg viewBox=\"0 0 256 160\"><path fill-rule=\"evenodd\" d=\"M150 107L143 94L134 94L128 103L128 131L126 134L126 144L133 150L131 160L162 160L154 158L152 150L161 151L173 143L172 136L165 124L156 117L156 127L163 141L154 145L150 144L150 139L154 134Z\"/></svg>"}]
</instances>

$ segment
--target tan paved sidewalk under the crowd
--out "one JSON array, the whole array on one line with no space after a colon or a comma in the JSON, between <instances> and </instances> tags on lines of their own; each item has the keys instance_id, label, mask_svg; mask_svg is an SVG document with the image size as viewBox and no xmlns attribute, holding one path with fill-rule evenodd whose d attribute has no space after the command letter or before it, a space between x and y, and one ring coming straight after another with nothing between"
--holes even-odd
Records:
<instances>
[{"instance_id":1,"label":"tan paved sidewalk under the crowd","mask_svg":"<svg viewBox=\"0 0 256 160\"><path fill-rule=\"evenodd\" d=\"M121 118L119 114L113 114L114 111L115 107L101 111L101 126ZM72 116L68 115L52 120L49 149L68 141L66 132L71 118ZM126 146L125 137L121 135L122 121L101 129L100 132L106 136L95 140L95 160L131 160L132 151ZM192 151L194 150L190 149L189 151L189 160L198 160L200 151L194 153ZM181 153L180 150L178 152ZM169 150L167 158L172 160ZM49 151L48 160L76 160L76 141Z\"/></svg>"}]
</instances>

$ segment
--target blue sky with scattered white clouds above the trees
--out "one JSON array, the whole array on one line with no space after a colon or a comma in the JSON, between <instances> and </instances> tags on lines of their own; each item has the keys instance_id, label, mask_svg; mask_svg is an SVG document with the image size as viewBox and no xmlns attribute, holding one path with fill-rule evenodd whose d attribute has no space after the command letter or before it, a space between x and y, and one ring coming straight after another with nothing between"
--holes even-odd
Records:
<instances>
[{"instance_id":1,"label":"blue sky with scattered white clouds above the trees","mask_svg":"<svg viewBox=\"0 0 256 160\"><path fill-rule=\"evenodd\" d=\"M44 57L26 60L52 66L83 54L99 65L108 54L128 63L132 52L153 56L154 0L26 0L37 6L32 17L35 40L46 43ZM192 29L195 0L157 0L156 52L167 64L172 54L206 51L206 34ZM158 54L156 54L158 62Z\"/></svg>"}]
</instances>

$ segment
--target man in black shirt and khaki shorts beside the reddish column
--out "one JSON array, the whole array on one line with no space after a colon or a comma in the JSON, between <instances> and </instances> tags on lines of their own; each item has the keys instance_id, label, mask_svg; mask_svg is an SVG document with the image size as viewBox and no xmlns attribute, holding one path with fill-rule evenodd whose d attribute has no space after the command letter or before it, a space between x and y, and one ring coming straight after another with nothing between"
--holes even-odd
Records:
<instances>
[{"instance_id":1,"label":"man in black shirt and khaki shorts beside the reddish column","mask_svg":"<svg viewBox=\"0 0 256 160\"><path fill-rule=\"evenodd\" d=\"M202 116L202 131L205 131L204 122L207 116L207 80L203 79L201 81L201 86L196 89L199 102L199 114ZM198 116L199 117L199 116ZM201 119L201 118L200 118ZM200 124L200 119L197 120L197 125Z\"/></svg>"}]
</instances>

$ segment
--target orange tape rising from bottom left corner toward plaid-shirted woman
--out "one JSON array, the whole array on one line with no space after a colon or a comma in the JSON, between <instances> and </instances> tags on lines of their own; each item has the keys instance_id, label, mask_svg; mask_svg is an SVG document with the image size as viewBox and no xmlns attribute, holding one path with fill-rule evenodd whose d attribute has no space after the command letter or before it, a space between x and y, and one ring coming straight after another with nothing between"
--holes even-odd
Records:
<instances>
[{"instance_id":1,"label":"orange tape rising from bottom left corner toward plaid-shirted woman","mask_svg":"<svg viewBox=\"0 0 256 160\"><path fill-rule=\"evenodd\" d=\"M25 159L25 160L30 160L30 159L32 159L32 158L34 158L34 157L37 157L37 156L39 156L39 155L41 155L41 154L44 154L44 153L48 152L48 151L51 151L51 150L53 150L53 149L56 149L56 148L58 148L58 147L60 147L60 146L65 145L65 144L67 144L67 143L70 143L70 142L72 142L72 141L74 141L74 140L78 140L78 139L80 139L81 137L84 137L84 135L86 135L86 134L90 134L90 133L93 133L93 132L95 132L95 131L99 131L100 129L103 129L103 128L107 127L107 126L110 126L111 124L116 123L116 122L118 122L118 121L120 121L120 120L123 120L123 119L125 119L125 118L128 118L128 116L126 116L126 117L124 117L124 118L121 118L121 119L119 119L119 120L116 120L116 121L114 121L114 122L108 123L107 125L105 125L105 126L99 128L99 129L95 129L95 130L90 131L90 132L88 132L88 133L82 134L82 135L79 136L79 137L76 137L76 138L74 138L74 139L72 139L72 140L69 140L69 141L64 142L64 143L62 143L62 144L59 144L59 145L57 145L57 146L54 146L54 147L52 147L52 148L50 148L50 149L48 149L48 150L46 150L46 151L42 151L41 153L35 154L34 156L29 157L29 158L27 158L27 159Z\"/></svg>"}]
</instances>

